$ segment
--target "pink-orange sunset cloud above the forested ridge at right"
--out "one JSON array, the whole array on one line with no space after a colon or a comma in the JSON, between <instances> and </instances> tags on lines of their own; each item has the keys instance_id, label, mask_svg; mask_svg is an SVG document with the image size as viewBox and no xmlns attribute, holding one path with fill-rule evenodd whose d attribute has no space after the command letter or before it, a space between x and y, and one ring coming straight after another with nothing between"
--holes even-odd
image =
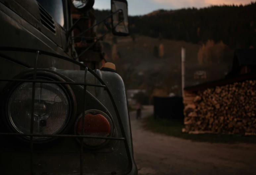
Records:
<instances>
[{"instance_id":1,"label":"pink-orange sunset cloud above the forested ridge at right","mask_svg":"<svg viewBox=\"0 0 256 175\"><path fill-rule=\"evenodd\" d=\"M209 5L222 5L222 4L249 4L251 0L152 0L158 4L170 5L173 8L186 8L186 7L206 7Z\"/></svg>"}]
</instances>

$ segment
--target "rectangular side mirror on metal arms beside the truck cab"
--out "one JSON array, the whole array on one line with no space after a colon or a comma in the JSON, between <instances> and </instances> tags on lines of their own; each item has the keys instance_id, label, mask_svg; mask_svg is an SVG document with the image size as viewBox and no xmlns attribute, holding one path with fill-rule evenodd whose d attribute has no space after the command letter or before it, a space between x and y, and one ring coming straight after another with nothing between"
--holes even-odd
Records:
<instances>
[{"instance_id":1,"label":"rectangular side mirror on metal arms beside the truck cab","mask_svg":"<svg viewBox=\"0 0 256 175\"><path fill-rule=\"evenodd\" d=\"M117 12L118 11L118 12ZM129 35L128 3L126 0L111 0L111 12L113 14L112 33L117 36ZM116 12L116 13L115 13Z\"/></svg>"}]
</instances>

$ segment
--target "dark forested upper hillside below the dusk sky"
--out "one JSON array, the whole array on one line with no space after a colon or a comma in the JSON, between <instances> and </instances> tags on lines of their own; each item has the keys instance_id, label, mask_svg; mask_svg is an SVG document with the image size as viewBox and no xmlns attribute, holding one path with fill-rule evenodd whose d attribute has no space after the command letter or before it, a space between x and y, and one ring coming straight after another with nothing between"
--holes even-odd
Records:
<instances>
[{"instance_id":1,"label":"dark forested upper hillside below the dusk sky","mask_svg":"<svg viewBox=\"0 0 256 175\"><path fill-rule=\"evenodd\" d=\"M110 12L96 10L103 19ZM183 40L195 44L223 41L230 48L256 47L256 2L245 6L211 6L175 11L159 10L129 17L130 31L150 37ZM103 25L98 27L104 32Z\"/></svg>"}]
</instances>

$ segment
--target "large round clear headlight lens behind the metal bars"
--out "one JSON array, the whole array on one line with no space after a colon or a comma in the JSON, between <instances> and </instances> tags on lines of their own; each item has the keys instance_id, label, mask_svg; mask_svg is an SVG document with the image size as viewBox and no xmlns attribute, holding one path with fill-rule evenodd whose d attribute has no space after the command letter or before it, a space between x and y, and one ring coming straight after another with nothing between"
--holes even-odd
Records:
<instances>
[{"instance_id":1,"label":"large round clear headlight lens behind the metal bars","mask_svg":"<svg viewBox=\"0 0 256 175\"><path fill-rule=\"evenodd\" d=\"M8 101L9 120L19 133L30 133L32 87L33 83L22 83ZM34 134L56 134L62 130L68 122L69 110L68 98L60 86L35 83Z\"/></svg>"}]
</instances>

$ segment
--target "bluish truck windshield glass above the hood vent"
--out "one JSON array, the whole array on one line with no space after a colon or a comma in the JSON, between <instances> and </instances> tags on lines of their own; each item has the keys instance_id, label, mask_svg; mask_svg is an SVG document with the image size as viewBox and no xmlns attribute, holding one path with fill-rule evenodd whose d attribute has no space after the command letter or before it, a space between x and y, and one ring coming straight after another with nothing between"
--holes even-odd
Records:
<instances>
[{"instance_id":1,"label":"bluish truck windshield glass above the hood vent","mask_svg":"<svg viewBox=\"0 0 256 175\"><path fill-rule=\"evenodd\" d=\"M53 19L65 28L65 18L62 0L37 0Z\"/></svg>"}]
</instances>

